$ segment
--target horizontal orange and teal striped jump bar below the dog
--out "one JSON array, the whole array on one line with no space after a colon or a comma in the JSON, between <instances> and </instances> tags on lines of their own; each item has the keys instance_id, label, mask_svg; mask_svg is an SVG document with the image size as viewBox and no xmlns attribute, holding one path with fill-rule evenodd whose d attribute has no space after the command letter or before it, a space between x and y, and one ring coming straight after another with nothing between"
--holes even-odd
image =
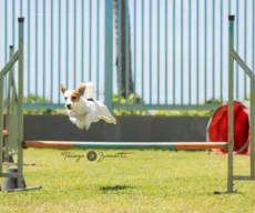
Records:
<instances>
[{"instance_id":1,"label":"horizontal orange and teal striped jump bar below the dog","mask_svg":"<svg viewBox=\"0 0 255 213\"><path fill-rule=\"evenodd\" d=\"M205 150L227 149L227 142L70 142L70 141L26 141L23 148L48 149L161 149L161 150Z\"/></svg>"}]
</instances>

